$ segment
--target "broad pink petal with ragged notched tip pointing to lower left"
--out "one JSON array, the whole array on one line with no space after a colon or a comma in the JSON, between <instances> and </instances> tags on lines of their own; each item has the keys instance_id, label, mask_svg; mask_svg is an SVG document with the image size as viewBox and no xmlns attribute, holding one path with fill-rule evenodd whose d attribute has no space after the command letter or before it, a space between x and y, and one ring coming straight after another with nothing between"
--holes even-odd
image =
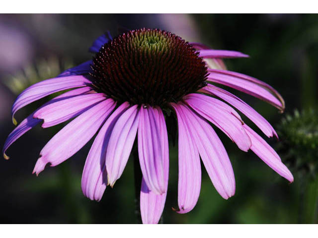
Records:
<instances>
[{"instance_id":1,"label":"broad pink petal with ragged notched tip pointing to lower left","mask_svg":"<svg viewBox=\"0 0 318 238\"><path fill-rule=\"evenodd\" d=\"M96 133L114 107L115 102L107 99L64 126L41 150L33 173L38 175L47 163L51 163L51 166L59 165L78 152Z\"/></svg>"}]
</instances>

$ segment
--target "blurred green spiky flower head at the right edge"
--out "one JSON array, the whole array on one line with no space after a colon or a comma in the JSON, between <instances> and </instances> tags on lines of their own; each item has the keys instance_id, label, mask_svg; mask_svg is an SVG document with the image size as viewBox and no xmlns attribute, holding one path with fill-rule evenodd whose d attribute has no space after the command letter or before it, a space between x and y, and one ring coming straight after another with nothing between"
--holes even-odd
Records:
<instances>
[{"instance_id":1,"label":"blurred green spiky flower head at the right edge","mask_svg":"<svg viewBox=\"0 0 318 238\"><path fill-rule=\"evenodd\" d=\"M318 172L318 113L307 109L287 115L278 125L277 149L299 178L315 179Z\"/></svg>"}]
</instances>

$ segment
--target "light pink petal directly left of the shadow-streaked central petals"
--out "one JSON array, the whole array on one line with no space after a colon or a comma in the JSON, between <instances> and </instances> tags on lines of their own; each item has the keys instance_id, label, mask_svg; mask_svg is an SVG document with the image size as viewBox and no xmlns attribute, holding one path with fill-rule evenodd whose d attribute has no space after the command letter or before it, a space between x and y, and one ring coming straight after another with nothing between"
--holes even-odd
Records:
<instances>
[{"instance_id":1,"label":"light pink petal directly left of the shadow-streaked central petals","mask_svg":"<svg viewBox=\"0 0 318 238\"><path fill-rule=\"evenodd\" d=\"M106 171L110 186L122 175L134 144L139 123L138 105L124 112L117 120L106 151Z\"/></svg>"}]
</instances>

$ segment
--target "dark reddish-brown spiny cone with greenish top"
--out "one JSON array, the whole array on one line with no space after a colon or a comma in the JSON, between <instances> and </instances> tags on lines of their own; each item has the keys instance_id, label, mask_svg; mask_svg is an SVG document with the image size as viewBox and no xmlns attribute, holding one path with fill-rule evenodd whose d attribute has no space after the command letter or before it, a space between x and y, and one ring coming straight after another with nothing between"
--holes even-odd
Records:
<instances>
[{"instance_id":1,"label":"dark reddish-brown spiny cone with greenish top","mask_svg":"<svg viewBox=\"0 0 318 238\"><path fill-rule=\"evenodd\" d=\"M170 32L128 31L93 58L92 84L119 102L164 107L205 86L207 67L198 55Z\"/></svg>"}]
</instances>

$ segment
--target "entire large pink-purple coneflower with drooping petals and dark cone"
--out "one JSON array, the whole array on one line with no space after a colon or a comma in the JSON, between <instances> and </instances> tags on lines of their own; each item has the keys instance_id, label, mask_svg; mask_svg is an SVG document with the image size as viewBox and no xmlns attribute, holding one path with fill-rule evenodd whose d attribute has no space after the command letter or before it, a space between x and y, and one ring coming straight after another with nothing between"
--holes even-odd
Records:
<instances>
[{"instance_id":1,"label":"entire large pink-purple coneflower with drooping petals and dark cone","mask_svg":"<svg viewBox=\"0 0 318 238\"><path fill-rule=\"evenodd\" d=\"M114 39L106 33L90 51L96 53L93 60L36 83L17 97L12 106L14 123L14 114L22 107L72 89L37 109L10 133L3 148L6 159L7 148L38 123L43 122L45 128L75 118L44 146L33 173L38 175L48 163L56 166L67 160L98 132L86 158L81 188L85 196L99 201L106 186L113 186L122 175L137 135L143 175L141 216L143 223L158 223L168 186L165 117L172 111L178 124L177 212L189 212L197 203L200 157L220 195L228 199L235 193L230 159L209 122L239 149L251 149L279 175L293 181L277 153L234 108L266 136L277 137L270 123L237 96L216 86L235 88L284 110L284 101L275 89L250 76L225 70L220 60L248 56L188 43L157 29L128 31ZM207 67L207 59L224 69Z\"/></svg>"}]
</instances>

